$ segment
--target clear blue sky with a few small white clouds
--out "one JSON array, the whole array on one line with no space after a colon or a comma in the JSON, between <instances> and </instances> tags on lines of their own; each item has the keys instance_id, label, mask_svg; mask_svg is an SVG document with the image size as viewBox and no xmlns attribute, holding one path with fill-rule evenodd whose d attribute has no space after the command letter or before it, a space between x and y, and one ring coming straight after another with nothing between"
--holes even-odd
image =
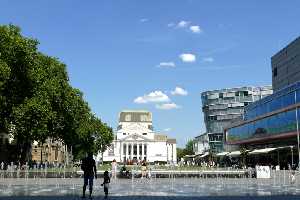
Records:
<instances>
[{"instance_id":1,"label":"clear blue sky with a few small white clouds","mask_svg":"<svg viewBox=\"0 0 300 200\"><path fill-rule=\"evenodd\" d=\"M272 85L270 58L300 35L299 6L2 1L0 24L19 26L39 51L66 63L70 84L114 131L120 111L149 110L155 134L183 148L205 132L202 92Z\"/></svg>"}]
</instances>

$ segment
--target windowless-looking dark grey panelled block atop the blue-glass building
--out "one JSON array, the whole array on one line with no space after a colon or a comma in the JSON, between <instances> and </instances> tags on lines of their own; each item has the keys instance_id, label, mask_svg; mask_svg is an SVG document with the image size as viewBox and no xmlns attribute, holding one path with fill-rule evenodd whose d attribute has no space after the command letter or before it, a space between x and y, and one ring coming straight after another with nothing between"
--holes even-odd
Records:
<instances>
[{"instance_id":1,"label":"windowless-looking dark grey panelled block atop the blue-glass building","mask_svg":"<svg viewBox=\"0 0 300 200\"><path fill-rule=\"evenodd\" d=\"M271 58L273 91L300 81L300 37Z\"/></svg>"}]
</instances>

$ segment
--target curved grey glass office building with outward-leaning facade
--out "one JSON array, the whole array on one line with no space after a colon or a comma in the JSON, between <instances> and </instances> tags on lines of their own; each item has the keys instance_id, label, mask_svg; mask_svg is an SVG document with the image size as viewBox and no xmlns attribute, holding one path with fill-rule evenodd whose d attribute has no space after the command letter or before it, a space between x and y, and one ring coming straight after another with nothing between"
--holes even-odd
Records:
<instances>
[{"instance_id":1,"label":"curved grey glass office building with outward-leaning facade","mask_svg":"<svg viewBox=\"0 0 300 200\"><path fill-rule=\"evenodd\" d=\"M272 86L218 89L201 94L209 150L223 152L223 127L241 116L244 106L273 93ZM195 138L194 144L197 143ZM201 152L201 150L198 150Z\"/></svg>"}]
</instances>

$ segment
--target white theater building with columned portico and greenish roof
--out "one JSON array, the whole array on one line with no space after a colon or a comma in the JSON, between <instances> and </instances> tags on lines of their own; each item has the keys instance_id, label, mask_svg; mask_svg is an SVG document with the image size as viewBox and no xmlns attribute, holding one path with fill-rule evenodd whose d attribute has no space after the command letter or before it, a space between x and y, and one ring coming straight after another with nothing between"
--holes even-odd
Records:
<instances>
[{"instance_id":1,"label":"white theater building with columned portico and greenish roof","mask_svg":"<svg viewBox=\"0 0 300 200\"><path fill-rule=\"evenodd\" d=\"M154 135L152 113L149 111L123 110L119 114L116 133L113 143L103 153L104 161L145 159L147 162L176 162L176 139L167 139L167 135Z\"/></svg>"}]
</instances>

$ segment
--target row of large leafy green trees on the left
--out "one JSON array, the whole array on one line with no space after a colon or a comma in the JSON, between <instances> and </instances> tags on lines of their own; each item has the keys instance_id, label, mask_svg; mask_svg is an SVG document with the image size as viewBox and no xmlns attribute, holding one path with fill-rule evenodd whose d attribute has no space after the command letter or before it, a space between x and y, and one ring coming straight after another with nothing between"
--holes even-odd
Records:
<instances>
[{"instance_id":1,"label":"row of large leafy green trees on the left","mask_svg":"<svg viewBox=\"0 0 300 200\"><path fill-rule=\"evenodd\" d=\"M22 37L18 26L0 26L0 133L44 144L61 139L79 150L104 152L113 129L91 113L83 93L69 83L67 66L38 52L36 39Z\"/></svg>"}]
</instances>

